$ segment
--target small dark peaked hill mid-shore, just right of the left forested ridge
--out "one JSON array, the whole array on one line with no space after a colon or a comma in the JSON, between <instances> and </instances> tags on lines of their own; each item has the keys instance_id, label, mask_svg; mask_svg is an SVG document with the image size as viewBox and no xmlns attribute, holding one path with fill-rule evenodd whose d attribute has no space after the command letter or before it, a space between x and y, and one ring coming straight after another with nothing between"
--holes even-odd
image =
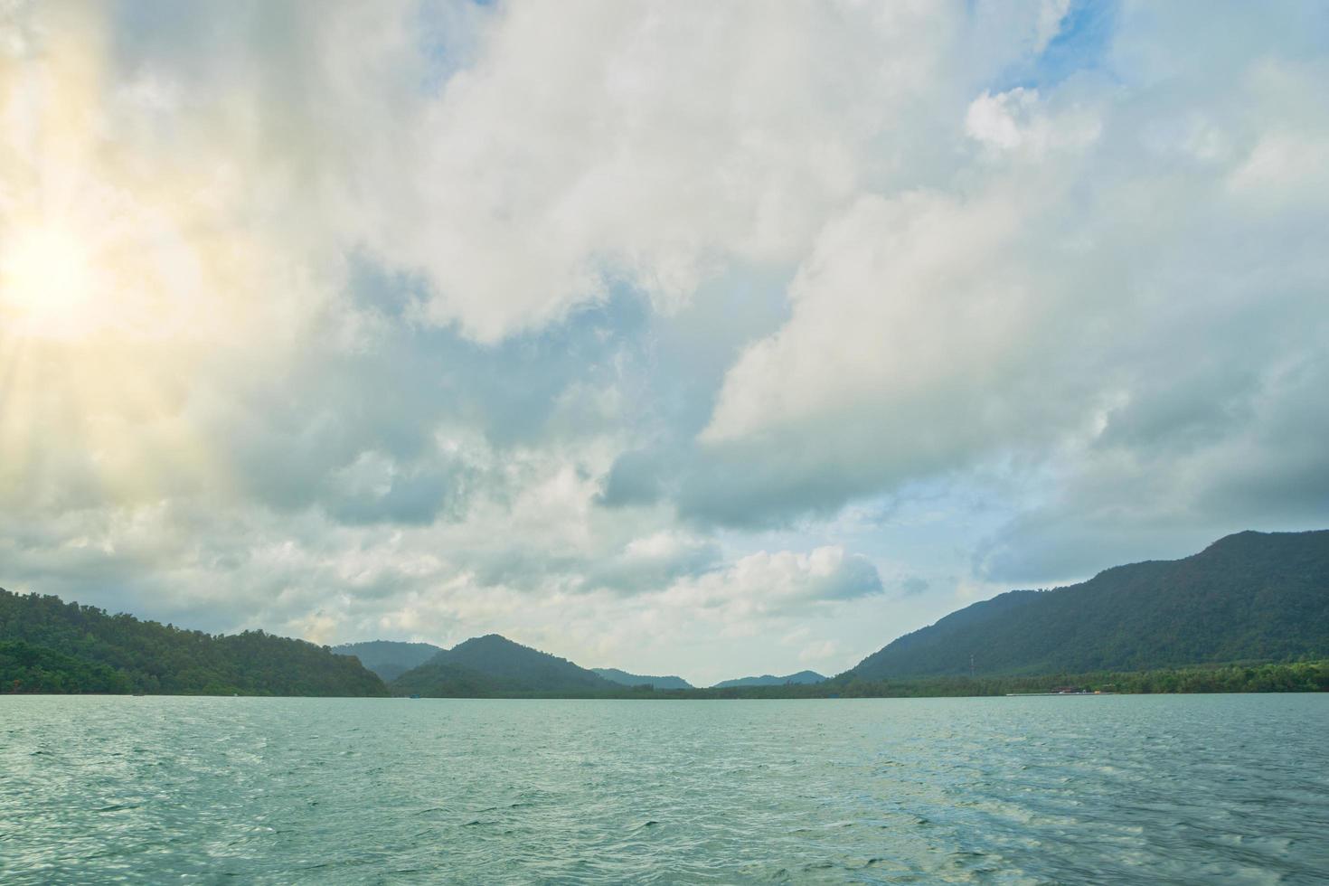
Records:
<instances>
[{"instance_id":1,"label":"small dark peaked hill mid-shore, just right of the left forested ridge","mask_svg":"<svg viewBox=\"0 0 1329 886\"><path fill-rule=\"evenodd\" d=\"M587 695L621 689L567 659L489 634L439 652L392 681L397 695L468 697L486 695Z\"/></svg>"}]
</instances>

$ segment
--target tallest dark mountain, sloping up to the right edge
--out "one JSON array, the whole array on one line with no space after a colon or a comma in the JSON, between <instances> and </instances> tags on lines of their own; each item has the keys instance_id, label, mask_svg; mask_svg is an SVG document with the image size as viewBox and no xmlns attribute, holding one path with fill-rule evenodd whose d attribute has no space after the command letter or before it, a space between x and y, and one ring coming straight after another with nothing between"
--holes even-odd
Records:
<instances>
[{"instance_id":1,"label":"tallest dark mountain, sloping up to the right edge","mask_svg":"<svg viewBox=\"0 0 1329 886\"><path fill-rule=\"evenodd\" d=\"M1084 673L1329 658L1329 530L1239 533L1179 561L1010 591L869 655L841 679Z\"/></svg>"}]
</instances>

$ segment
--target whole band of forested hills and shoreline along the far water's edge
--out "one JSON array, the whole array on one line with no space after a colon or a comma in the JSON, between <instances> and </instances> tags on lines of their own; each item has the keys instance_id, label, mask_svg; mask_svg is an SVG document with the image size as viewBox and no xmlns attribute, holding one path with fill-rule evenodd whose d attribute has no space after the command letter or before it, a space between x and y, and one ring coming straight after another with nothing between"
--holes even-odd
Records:
<instances>
[{"instance_id":1,"label":"whole band of forested hills and shoreline along the far water's edge","mask_svg":"<svg viewBox=\"0 0 1329 886\"><path fill-rule=\"evenodd\" d=\"M1010 591L901 636L853 668L692 688L582 668L497 634L451 650L334 648L209 635L0 590L0 692L421 697L775 699L1046 692L1329 691L1329 530L1239 533L1180 561Z\"/></svg>"}]
</instances>

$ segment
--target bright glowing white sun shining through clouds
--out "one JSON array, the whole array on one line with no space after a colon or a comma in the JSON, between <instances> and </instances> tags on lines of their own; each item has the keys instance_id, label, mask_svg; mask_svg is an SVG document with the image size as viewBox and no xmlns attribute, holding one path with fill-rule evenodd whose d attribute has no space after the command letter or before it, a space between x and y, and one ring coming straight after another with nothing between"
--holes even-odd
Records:
<instances>
[{"instance_id":1,"label":"bright glowing white sun shining through clouds","mask_svg":"<svg viewBox=\"0 0 1329 886\"><path fill-rule=\"evenodd\" d=\"M0 242L0 310L24 335L69 339L89 325L97 280L86 242L68 227L36 224Z\"/></svg>"}]
</instances>

